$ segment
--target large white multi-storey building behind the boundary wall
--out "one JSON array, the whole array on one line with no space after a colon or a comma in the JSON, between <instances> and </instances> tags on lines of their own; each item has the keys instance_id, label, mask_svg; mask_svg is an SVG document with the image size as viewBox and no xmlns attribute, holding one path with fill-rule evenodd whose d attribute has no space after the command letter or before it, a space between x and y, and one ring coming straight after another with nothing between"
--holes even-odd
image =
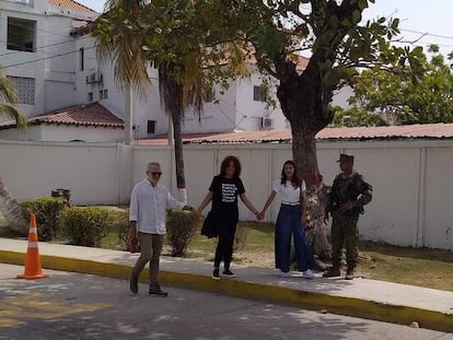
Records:
<instances>
[{"instance_id":1,"label":"large white multi-storey building behind the boundary wall","mask_svg":"<svg viewBox=\"0 0 453 340\"><path fill-rule=\"evenodd\" d=\"M98 62L96 42L84 28L98 13L73 0L0 0L0 66L15 84L20 108L25 115L48 115L98 102L113 115L125 118L125 94L114 82L112 63ZM201 117L187 112L183 132L287 129L281 110L268 108L259 93L262 79L256 67L253 63L248 67L251 77L232 81L224 94L217 94L218 103L205 103ZM132 98L135 139L167 131L155 70L150 70L150 79L152 86L147 95ZM0 117L0 122L4 121L5 118ZM83 122L78 121L78 125L83 126ZM3 127L0 139L44 138L42 133L24 134L11 129L15 130L11 126ZM55 125L50 129L59 127ZM73 140L72 133L68 138L61 132L46 136Z\"/></svg>"}]
</instances>

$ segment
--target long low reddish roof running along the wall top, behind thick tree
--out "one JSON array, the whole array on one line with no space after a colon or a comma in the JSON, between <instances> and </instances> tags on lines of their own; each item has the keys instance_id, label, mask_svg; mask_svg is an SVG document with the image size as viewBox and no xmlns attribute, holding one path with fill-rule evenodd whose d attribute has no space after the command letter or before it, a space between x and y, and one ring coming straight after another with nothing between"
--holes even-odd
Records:
<instances>
[{"instance_id":1,"label":"long low reddish roof running along the wall top, behind thick tree","mask_svg":"<svg viewBox=\"0 0 453 340\"><path fill-rule=\"evenodd\" d=\"M290 130L240 131L223 133L184 134L185 143L289 143ZM427 124L372 128L325 128L316 134L317 140L373 140L373 139L453 139L453 124ZM137 140L137 144L166 144L166 136Z\"/></svg>"}]
</instances>

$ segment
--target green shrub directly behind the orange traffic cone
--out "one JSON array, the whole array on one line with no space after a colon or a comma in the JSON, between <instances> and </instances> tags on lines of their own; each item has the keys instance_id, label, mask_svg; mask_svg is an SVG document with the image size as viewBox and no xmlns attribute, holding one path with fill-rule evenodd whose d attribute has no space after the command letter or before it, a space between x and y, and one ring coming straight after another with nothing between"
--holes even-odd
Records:
<instances>
[{"instance_id":1,"label":"green shrub directly behind the orange traffic cone","mask_svg":"<svg viewBox=\"0 0 453 340\"><path fill-rule=\"evenodd\" d=\"M58 233L60 212L65 201L58 197L42 197L21 203L25 221L33 213L36 216L37 235L39 241L51 241Z\"/></svg>"}]
</instances>

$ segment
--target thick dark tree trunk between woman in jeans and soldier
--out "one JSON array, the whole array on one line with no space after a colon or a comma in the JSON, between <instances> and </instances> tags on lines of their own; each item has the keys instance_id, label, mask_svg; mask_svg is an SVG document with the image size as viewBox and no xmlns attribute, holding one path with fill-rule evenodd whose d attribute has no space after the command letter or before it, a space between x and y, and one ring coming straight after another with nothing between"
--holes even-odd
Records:
<instances>
[{"instance_id":1,"label":"thick dark tree trunk between woman in jeans and soldier","mask_svg":"<svg viewBox=\"0 0 453 340\"><path fill-rule=\"evenodd\" d=\"M278 61L276 70L280 84L277 96L291 124L293 160L307 186L306 236L317 259L326 261L332 250L324 224L326 188L317 167L315 137L332 121L333 113L328 109L332 92L323 91L317 60L318 56L314 55L302 74L298 74L295 66L286 58Z\"/></svg>"}]
</instances>

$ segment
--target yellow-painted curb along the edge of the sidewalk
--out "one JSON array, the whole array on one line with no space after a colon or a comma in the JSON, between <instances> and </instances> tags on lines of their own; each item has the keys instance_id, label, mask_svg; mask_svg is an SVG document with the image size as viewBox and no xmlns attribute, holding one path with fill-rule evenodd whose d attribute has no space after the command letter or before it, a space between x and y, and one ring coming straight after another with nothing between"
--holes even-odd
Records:
<instances>
[{"instance_id":1,"label":"yellow-painted curb along the edge of the sidewalk","mask_svg":"<svg viewBox=\"0 0 453 340\"><path fill-rule=\"evenodd\" d=\"M40 256L43 268L88 273L114 279L127 280L130 266L96 262L63 258L57 256ZM22 266L25 254L0 250L0 262ZM191 289L211 293L225 294L236 297L259 300L317 309L321 313L333 313L379 321L409 325L417 321L419 327L444 332L453 332L453 314L421 309L408 306L391 305L356 297L342 297L322 293L303 292L289 288L279 288L260 283L239 280L213 281L210 277L160 271L163 284L175 288ZM140 282L148 282L143 275Z\"/></svg>"}]
</instances>

